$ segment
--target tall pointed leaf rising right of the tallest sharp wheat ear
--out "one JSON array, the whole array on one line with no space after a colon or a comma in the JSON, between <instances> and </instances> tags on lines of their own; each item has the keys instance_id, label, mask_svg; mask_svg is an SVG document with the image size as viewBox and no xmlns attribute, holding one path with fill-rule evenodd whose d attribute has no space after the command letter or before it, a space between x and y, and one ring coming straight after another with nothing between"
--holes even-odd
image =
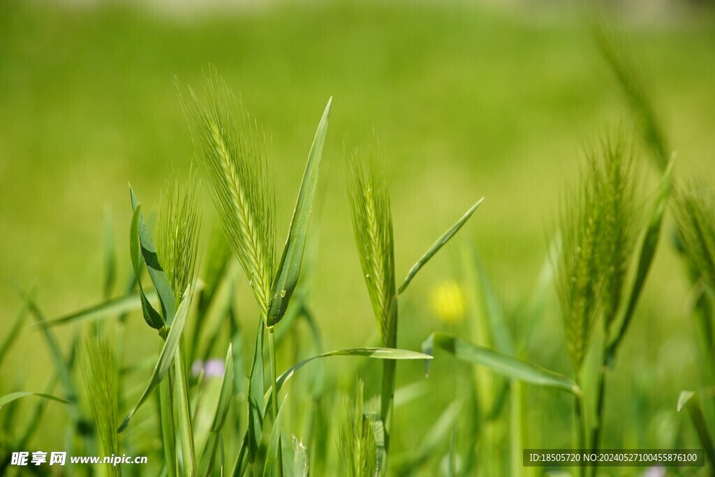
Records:
<instances>
[{"instance_id":1,"label":"tall pointed leaf rising right of the tallest sharp wheat ear","mask_svg":"<svg viewBox=\"0 0 715 477\"><path fill-rule=\"evenodd\" d=\"M322 147L325 144L325 135L327 134L327 124L330 119L331 104L332 97L327 102L308 154L293 218L290 222L288 239L285 242L278 272L273 281L270 306L268 308L268 326L275 325L283 318L300 275L300 264L305 250L310 212L312 212L315 191L317 190L317 177L320 171Z\"/></svg>"}]
</instances>

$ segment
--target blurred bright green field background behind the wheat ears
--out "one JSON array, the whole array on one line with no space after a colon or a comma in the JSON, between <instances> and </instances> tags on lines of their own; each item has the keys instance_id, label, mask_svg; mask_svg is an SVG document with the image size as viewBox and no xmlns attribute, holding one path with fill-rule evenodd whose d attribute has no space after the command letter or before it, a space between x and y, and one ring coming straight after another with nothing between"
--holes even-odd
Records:
<instances>
[{"instance_id":1,"label":"blurred bright green field background behind the wheat ears","mask_svg":"<svg viewBox=\"0 0 715 477\"><path fill-rule=\"evenodd\" d=\"M11 281L37 285L49 318L101 298L108 213L124 282L130 270L127 183L151 210L172 167L187 171L193 147L174 76L200 90L204 72L215 66L270 137L281 241L317 121L333 97L321 177L325 198L312 222L320 245L311 297L327 348L375 339L342 170L344 150L364 149L373 134L388 162L398 274L485 197L458 238L480 250L518 334L523 323L513 312L536 281L558 207L578 177L583 143L629 121L584 12L572 7L326 1L167 11L0 2L0 328L9 326L21 304ZM699 174L712 184L711 9L621 14L616 28L623 27L633 67L656 99L678 153L678 174ZM645 206L654 189L653 168L646 154L638 158ZM204 206L208 231L209 200ZM613 373L606 412L606 440L613 443L657 446L667 432L694 436L683 416L674 414L679 391L700 383L691 295L681 263L667 240L661 245ZM450 329L430 311L432 290L457 275L456 247L447 250L405 298L403 348L418 349L432 330ZM253 300L242 296L242 320L254 323ZM154 334L139 315L131 330L132 352L154 353ZM69 346L71 330L58 329L58 335ZM552 303L529 357L570 373L562 343ZM41 388L50 363L41 335L27 331L0 371L0 391L19 383ZM445 358L433 374L456 366ZM340 375L342 368L330 370ZM400 382L422 376L419 365L400 370ZM541 431L528 444L567 446L568 398L551 390L530 390L530 396L533 408L548 411L532 417ZM420 440L420 428L439 411L410 406L400 411L403 417L418 413L423 421L415 433L398 436L405 448ZM637 425L618 428L624 416ZM61 425L61 415L51 419ZM551 436L555 421L566 424ZM51 432L40 436L40 442L52 440Z\"/></svg>"}]
</instances>

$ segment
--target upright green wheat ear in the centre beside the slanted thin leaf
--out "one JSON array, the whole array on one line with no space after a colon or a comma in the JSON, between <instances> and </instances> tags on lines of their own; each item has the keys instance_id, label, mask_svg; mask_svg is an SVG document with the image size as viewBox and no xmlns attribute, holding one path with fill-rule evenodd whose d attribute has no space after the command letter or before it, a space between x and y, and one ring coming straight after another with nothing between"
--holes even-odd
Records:
<instances>
[{"instance_id":1,"label":"upright green wheat ear in the centre beside the slanted thin leaf","mask_svg":"<svg viewBox=\"0 0 715 477\"><path fill-rule=\"evenodd\" d=\"M395 325L392 323L394 314L390 313L395 297L393 219L385 162L375 148L370 148L367 164L360 161L357 151L347 157L347 182L360 265L378 320L380 338L386 345Z\"/></svg>"}]
</instances>

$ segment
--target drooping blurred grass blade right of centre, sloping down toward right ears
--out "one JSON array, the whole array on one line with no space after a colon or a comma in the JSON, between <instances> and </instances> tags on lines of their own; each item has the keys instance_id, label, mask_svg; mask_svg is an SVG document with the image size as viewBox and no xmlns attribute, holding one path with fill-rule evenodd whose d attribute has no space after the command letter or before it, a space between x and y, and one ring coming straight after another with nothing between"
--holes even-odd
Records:
<instances>
[{"instance_id":1,"label":"drooping blurred grass blade right of centre, sloping down toward right ears","mask_svg":"<svg viewBox=\"0 0 715 477\"><path fill-rule=\"evenodd\" d=\"M494 373L506 376L506 378L517 379L538 386L563 389L575 395L581 394L581 389L578 385L564 375L495 350L473 345L446 333L433 333L423 343L422 348L428 354L432 353L435 348L440 348L454 355L455 358L468 363L486 366ZM429 368L427 369L429 370Z\"/></svg>"}]
</instances>

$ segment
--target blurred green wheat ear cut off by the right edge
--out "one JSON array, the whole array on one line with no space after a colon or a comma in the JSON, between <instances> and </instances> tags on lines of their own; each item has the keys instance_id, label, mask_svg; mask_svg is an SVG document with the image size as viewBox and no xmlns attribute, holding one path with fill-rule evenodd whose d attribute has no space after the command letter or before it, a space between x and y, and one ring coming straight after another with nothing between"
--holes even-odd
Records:
<instances>
[{"instance_id":1,"label":"blurred green wheat ear cut off by the right edge","mask_svg":"<svg viewBox=\"0 0 715 477\"><path fill-rule=\"evenodd\" d=\"M715 192L691 179L676 195L674 215L691 268L715 291Z\"/></svg>"}]
</instances>

